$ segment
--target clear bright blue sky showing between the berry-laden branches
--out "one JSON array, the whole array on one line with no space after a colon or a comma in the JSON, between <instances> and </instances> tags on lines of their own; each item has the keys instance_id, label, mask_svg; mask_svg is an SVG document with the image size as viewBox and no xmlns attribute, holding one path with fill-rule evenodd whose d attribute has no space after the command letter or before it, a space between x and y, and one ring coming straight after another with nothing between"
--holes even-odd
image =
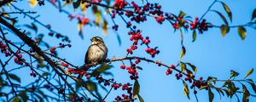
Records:
<instances>
[{"instance_id":1,"label":"clear bright blue sky showing between the berry-laden branches","mask_svg":"<svg viewBox=\"0 0 256 102\"><path fill-rule=\"evenodd\" d=\"M196 16L201 17L212 3L213 0L148 0L150 3L160 3L162 8L166 12L173 14L178 14L180 10L183 10L186 14L195 18ZM224 1L233 14L233 22L230 22L230 26L236 26L246 23L251 19L251 14L253 9L256 8L256 1L247 0L236 0L236 1ZM38 20L41 20L44 24L50 24L55 31L59 31L64 35L67 35L72 40L72 48L63 48L58 50L59 55L62 58L66 58L68 61L72 62L74 65L83 65L84 64L84 54L86 49L90 45L90 38L99 36L104 39L106 45L108 46L108 59L115 57L123 57L126 54L126 48L129 48L131 42L129 36L127 35L128 29L125 28L124 22L117 18L115 21L119 24L119 36L121 37L122 44L119 46L116 34L113 31L108 31L108 35L104 36L102 30L94 26L85 26L83 28L84 39L81 39L78 34L77 21L69 21L67 14L59 13L57 9L51 6L49 3L46 3L45 6L36 6L35 8L30 8L29 4L25 1L22 4L15 4L19 8L30 9L31 11L36 11L36 15L40 15ZM221 11L226 17L227 14L224 13L224 8L221 3L216 3L213 7L218 11ZM70 12L73 12L73 6L65 7ZM73 12L73 14L78 14L79 10ZM20 16L20 15L17 15ZM89 18L93 16L88 12L86 15ZM106 18L110 24L113 26L113 23L109 19L109 16L106 15ZM205 18L207 21L212 22L214 25L221 25L224 22L218 16L212 12L208 13ZM230 20L229 20L230 21ZM20 25L32 22L28 18L20 19ZM148 18L145 23L137 25L138 28L143 30L143 35L148 35L150 37L151 43L150 46L158 46L160 49L160 54L157 55L154 60L160 60L163 63L172 65L176 64L180 56L180 34L179 32L174 32L172 26L165 22L163 25L158 25L153 18ZM39 27L38 32L47 34L48 31L42 27ZM230 70L240 72L240 77L243 78L247 71L251 68L255 68L256 64L256 45L253 44L256 42L256 35L254 34L255 30L247 28L247 37L244 41L241 41L237 33L237 29L230 29L230 32L226 37L222 37L220 30L218 28L210 29L204 34L198 35L197 40L192 42L192 32L189 31L184 34L184 46L187 49L187 54L184 56L184 62L190 62L197 66L196 77L207 78L209 76L218 77L218 79L228 79L230 77ZM9 36L12 37L12 36ZM14 39L17 40L18 39ZM49 37L45 39L51 45L58 45L59 40ZM151 59L151 57L144 53L145 47L139 47L133 55L146 57ZM1 56L2 58L2 56ZM113 75L117 82L131 82L129 80L129 75L126 71L119 69L121 62L114 62L114 68L110 71L113 72ZM140 94L143 96L145 101L154 102L154 101L179 101L187 102L189 99L183 94L183 83L172 76L166 76L166 68L158 67L157 65L150 64L148 62L142 62L140 64L143 67L143 71L139 71L139 83L141 86ZM12 66L12 65L9 65ZM15 67L15 65L13 65ZM33 79L29 76L30 71L21 70L19 72L24 78L21 79L21 82L26 79ZM24 71L24 72L23 72ZM255 73L249 78L255 80ZM24 81L26 82L26 81ZM221 86L221 84L217 84ZM248 87L253 94L252 88ZM113 91L109 94L108 101L111 101L115 98L116 95L123 94L122 91ZM192 91L190 93L193 93ZM106 92L102 91L104 96ZM222 97L219 99L217 93L215 93L215 98L213 101L236 101L236 97L228 99ZM241 94L239 94L241 98ZM190 101L195 101L194 94L190 94ZM208 101L208 96L206 91L198 92L198 99L200 101ZM251 98L251 101L256 101L256 99Z\"/></svg>"}]
</instances>

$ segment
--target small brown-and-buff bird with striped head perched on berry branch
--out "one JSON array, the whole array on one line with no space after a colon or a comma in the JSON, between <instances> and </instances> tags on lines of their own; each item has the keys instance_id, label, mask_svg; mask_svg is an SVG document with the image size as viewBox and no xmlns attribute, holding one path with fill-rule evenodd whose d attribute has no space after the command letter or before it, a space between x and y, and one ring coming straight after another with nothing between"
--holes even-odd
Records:
<instances>
[{"instance_id":1,"label":"small brown-and-buff bird with striped head perched on berry branch","mask_svg":"<svg viewBox=\"0 0 256 102\"><path fill-rule=\"evenodd\" d=\"M84 64L96 65L107 58L108 48L101 37L92 37L90 41L91 44L85 54Z\"/></svg>"}]
</instances>

